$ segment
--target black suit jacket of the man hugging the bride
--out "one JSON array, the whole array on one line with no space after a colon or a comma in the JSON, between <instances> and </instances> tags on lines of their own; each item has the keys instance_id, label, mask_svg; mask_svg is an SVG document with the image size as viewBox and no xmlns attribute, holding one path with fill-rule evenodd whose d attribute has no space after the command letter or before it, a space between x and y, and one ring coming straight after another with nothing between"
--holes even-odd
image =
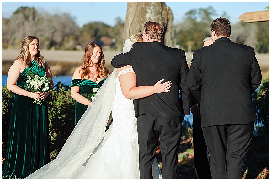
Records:
<instances>
[{"instance_id":1,"label":"black suit jacket of the man hugging the bride","mask_svg":"<svg viewBox=\"0 0 271 181\"><path fill-rule=\"evenodd\" d=\"M181 115L189 115L190 92L185 84L189 68L183 50L157 41L138 42L128 53L116 55L111 64L116 68L131 65L137 86L153 86L161 79L172 83L169 92L134 100L135 117L145 114L180 122Z\"/></svg>"}]
</instances>

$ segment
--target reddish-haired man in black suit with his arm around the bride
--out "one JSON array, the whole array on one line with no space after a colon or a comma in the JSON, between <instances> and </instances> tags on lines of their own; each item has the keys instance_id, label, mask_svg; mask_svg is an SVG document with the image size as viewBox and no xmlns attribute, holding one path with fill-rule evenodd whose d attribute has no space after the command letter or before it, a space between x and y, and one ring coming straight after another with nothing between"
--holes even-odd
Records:
<instances>
[{"instance_id":1,"label":"reddish-haired man in black suit with his arm around the bride","mask_svg":"<svg viewBox=\"0 0 271 181\"><path fill-rule=\"evenodd\" d=\"M117 55L111 61L116 68L131 65L136 74L136 86L153 86L161 79L172 83L167 93L134 100L140 179L153 179L152 163L159 138L163 179L177 178L181 123L184 115L190 113L190 93L185 84L189 68L185 52L164 45L163 31L164 27L160 23L146 22L143 42L134 43L128 53Z\"/></svg>"}]
</instances>

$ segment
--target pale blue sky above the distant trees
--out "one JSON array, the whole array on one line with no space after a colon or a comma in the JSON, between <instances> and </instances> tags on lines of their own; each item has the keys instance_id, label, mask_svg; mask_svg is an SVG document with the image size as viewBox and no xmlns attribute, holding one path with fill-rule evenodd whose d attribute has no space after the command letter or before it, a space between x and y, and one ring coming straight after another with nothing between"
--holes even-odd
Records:
<instances>
[{"instance_id":1,"label":"pale blue sky above the distant trees","mask_svg":"<svg viewBox=\"0 0 271 181\"><path fill-rule=\"evenodd\" d=\"M227 2L165 2L173 12L174 23L181 22L184 14L191 9L207 8L212 6L217 13L217 17L221 16L223 11L229 16L231 23L240 21L238 17L245 12L261 11L269 6L269 1L252 2L252 1L227 1ZM2 1L2 17L10 17L12 13L21 6L35 7L39 12L46 11L50 14L69 13L75 18L75 22L79 27L82 27L88 22L104 22L110 26L115 25L115 18L120 17L125 20L127 2L3 2ZM217 18L214 17L214 18Z\"/></svg>"}]
</instances>

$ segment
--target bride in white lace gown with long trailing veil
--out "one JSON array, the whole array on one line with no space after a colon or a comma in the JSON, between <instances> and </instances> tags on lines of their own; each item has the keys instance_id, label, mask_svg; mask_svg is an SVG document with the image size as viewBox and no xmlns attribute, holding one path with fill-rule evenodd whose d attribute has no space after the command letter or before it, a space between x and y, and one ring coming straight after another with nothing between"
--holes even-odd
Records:
<instances>
[{"instance_id":1,"label":"bride in white lace gown with long trailing veil","mask_svg":"<svg viewBox=\"0 0 271 181\"><path fill-rule=\"evenodd\" d=\"M123 52L131 47L130 39L126 40ZM25 179L140 179L133 101L124 97L119 81L119 76L133 69L120 69L118 75L114 69L101 86L57 158ZM169 82L161 82L147 87L155 87L156 92L169 91ZM105 132L111 110L113 122ZM162 179L156 159L152 175L153 179Z\"/></svg>"}]
</instances>

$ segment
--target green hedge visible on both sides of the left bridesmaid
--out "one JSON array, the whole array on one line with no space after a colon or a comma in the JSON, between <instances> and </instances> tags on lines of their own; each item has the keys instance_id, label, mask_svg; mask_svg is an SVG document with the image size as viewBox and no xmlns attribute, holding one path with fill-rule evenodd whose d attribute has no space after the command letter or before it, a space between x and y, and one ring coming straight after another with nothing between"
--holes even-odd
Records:
<instances>
[{"instance_id":1,"label":"green hedge visible on both sides of the left bridesmaid","mask_svg":"<svg viewBox=\"0 0 271 181\"><path fill-rule=\"evenodd\" d=\"M75 127L75 100L70 86L58 82L48 96L50 155L55 159ZM2 158L5 158L13 93L2 86Z\"/></svg>"}]
</instances>

